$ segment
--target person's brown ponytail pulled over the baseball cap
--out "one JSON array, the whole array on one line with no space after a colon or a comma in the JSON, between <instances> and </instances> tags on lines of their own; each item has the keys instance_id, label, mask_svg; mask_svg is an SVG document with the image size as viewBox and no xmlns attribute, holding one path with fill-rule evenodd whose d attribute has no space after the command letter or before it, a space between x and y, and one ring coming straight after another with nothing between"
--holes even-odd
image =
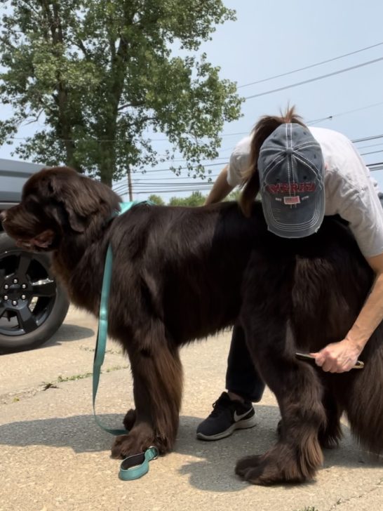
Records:
<instances>
[{"instance_id":1,"label":"person's brown ponytail pulled over the baseball cap","mask_svg":"<svg viewBox=\"0 0 383 511\"><path fill-rule=\"evenodd\" d=\"M250 216L251 206L260 191L258 157L260 155L261 145L278 126L290 122L304 126L301 117L295 113L295 107L288 107L284 114L281 112L280 117L265 115L260 118L253 128L250 147L250 166L243 174L243 192L239 201L243 214L246 216Z\"/></svg>"}]
</instances>

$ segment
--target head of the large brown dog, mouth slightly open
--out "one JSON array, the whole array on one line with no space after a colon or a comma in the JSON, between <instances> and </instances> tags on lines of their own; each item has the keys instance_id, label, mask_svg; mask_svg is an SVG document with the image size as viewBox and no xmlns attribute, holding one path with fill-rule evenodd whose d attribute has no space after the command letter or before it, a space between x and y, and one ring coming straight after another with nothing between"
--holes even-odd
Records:
<instances>
[{"instance_id":1,"label":"head of the large brown dog, mouth slightly open","mask_svg":"<svg viewBox=\"0 0 383 511\"><path fill-rule=\"evenodd\" d=\"M43 168L27 180L20 204L1 213L1 221L18 246L51 251L63 236L105 223L119 201L109 187L72 168Z\"/></svg>"}]
</instances>

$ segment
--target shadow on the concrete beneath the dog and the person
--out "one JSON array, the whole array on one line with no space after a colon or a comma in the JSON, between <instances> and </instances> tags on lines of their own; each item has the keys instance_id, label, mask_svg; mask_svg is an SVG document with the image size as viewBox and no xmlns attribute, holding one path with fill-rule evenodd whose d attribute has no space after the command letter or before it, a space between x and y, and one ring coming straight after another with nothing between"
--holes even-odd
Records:
<instances>
[{"instance_id":1,"label":"shadow on the concrete beneath the dog and the person","mask_svg":"<svg viewBox=\"0 0 383 511\"><path fill-rule=\"evenodd\" d=\"M98 417L107 427L120 427L123 418L116 413ZM186 458L182 460L180 474L189 475L190 484L203 491L243 489L246 483L234 474L236 460L250 454L264 453L276 442L278 409L275 406L258 405L257 417L260 419L259 423L250 430L234 432L231 437L219 442L201 442L196 439L195 433L202 419L181 416L174 454L170 455L182 455ZM370 460L361 453L351 439L348 428L343 426L343 430L344 439L340 448L324 452L325 463L321 470L328 470L334 465L376 467L379 462ZM11 446L69 447L76 453L105 451L105 456L109 457L112 442L112 435L103 432L95 424L92 415L25 420L0 426L0 444ZM156 463L161 463L161 458Z\"/></svg>"}]
</instances>

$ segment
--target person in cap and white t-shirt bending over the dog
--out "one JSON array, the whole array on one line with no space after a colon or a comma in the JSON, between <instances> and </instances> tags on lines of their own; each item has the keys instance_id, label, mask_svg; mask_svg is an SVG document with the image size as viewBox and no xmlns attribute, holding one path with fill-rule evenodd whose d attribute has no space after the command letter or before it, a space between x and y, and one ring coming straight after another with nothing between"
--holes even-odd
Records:
<instances>
[{"instance_id":1,"label":"person in cap and white t-shirt bending over the dog","mask_svg":"<svg viewBox=\"0 0 383 511\"><path fill-rule=\"evenodd\" d=\"M244 184L243 212L250 214L260 193L268 229L276 236L310 236L324 215L337 214L349 223L375 281L347 336L314 353L323 371L349 371L383 319L383 194L377 183L347 137L305 126L293 107L281 117L262 117L252 133L238 142L206 204L222 201ZM231 338L226 389L197 427L197 438L217 440L255 425L253 402L262 399L264 383L238 325Z\"/></svg>"}]
</instances>

